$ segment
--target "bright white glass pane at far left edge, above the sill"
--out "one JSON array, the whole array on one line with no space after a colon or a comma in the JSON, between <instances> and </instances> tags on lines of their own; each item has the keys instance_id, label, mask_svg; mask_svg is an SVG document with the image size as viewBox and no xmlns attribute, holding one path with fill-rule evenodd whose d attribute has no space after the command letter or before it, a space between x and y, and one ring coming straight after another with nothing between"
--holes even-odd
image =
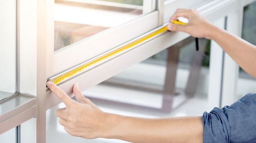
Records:
<instances>
[{"instance_id":1,"label":"bright white glass pane at far left edge, above the sill","mask_svg":"<svg viewBox=\"0 0 256 143\"><path fill-rule=\"evenodd\" d=\"M16 92L16 0L0 1L0 100Z\"/></svg>"}]
</instances>

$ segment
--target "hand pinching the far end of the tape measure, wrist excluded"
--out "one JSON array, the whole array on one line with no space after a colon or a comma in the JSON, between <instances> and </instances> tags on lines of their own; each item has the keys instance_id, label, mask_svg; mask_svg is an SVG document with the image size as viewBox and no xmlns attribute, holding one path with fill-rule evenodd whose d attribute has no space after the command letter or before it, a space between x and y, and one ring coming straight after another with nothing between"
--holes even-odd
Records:
<instances>
[{"instance_id":1,"label":"hand pinching the far end of the tape measure, wrist excluded","mask_svg":"<svg viewBox=\"0 0 256 143\"><path fill-rule=\"evenodd\" d=\"M172 21L176 20L177 17L185 17L188 19L187 25L173 24ZM170 31L182 31L190 34L197 38L211 38L212 30L214 25L207 21L197 10L195 9L177 9L176 12L170 19L168 29Z\"/></svg>"}]
</instances>

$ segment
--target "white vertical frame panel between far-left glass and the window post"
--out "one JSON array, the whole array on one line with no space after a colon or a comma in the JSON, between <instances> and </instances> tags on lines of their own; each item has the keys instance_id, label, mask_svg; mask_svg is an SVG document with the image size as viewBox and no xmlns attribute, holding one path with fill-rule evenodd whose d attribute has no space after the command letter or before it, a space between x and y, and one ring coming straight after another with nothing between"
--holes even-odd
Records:
<instances>
[{"instance_id":1,"label":"white vertical frame panel between far-left glass and the window post","mask_svg":"<svg viewBox=\"0 0 256 143\"><path fill-rule=\"evenodd\" d=\"M36 95L36 1L20 2L20 92Z\"/></svg>"}]
</instances>

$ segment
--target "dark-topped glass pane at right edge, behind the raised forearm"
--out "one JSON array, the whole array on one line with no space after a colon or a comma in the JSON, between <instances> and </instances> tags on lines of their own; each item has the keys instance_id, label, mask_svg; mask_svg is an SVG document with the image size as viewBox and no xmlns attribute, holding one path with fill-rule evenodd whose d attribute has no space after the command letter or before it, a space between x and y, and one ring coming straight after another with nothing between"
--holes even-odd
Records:
<instances>
[{"instance_id":1,"label":"dark-topped glass pane at right edge, behind the raised forearm","mask_svg":"<svg viewBox=\"0 0 256 143\"><path fill-rule=\"evenodd\" d=\"M244 8L242 38L253 45L256 45L256 2ZM239 70L237 81L237 99L245 96L247 93L255 92L256 79L245 72L242 68Z\"/></svg>"}]
</instances>

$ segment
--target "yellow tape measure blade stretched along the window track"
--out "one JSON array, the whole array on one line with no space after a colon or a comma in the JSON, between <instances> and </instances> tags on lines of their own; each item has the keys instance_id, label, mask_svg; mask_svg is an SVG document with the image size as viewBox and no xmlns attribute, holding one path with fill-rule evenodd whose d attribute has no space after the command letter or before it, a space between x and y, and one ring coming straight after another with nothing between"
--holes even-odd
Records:
<instances>
[{"instance_id":1,"label":"yellow tape measure blade stretched along the window track","mask_svg":"<svg viewBox=\"0 0 256 143\"><path fill-rule=\"evenodd\" d=\"M106 59L109 59L110 57L112 57L114 55L117 55L117 54L119 54L127 49L130 49L131 47L133 47L145 40L148 40L149 38L152 38L153 36L156 36L164 31L167 31L168 30L167 25L168 24L164 24L163 26L150 31L150 32L138 37L135 40L125 43L124 45L117 47L116 49L111 50L110 52L106 52L106 53L94 58L93 60L87 61L83 64L76 66L75 68L72 68L68 71L58 74L58 75L50 78L49 81L52 81L54 84L57 84L57 83L60 83L61 81L69 79L70 77L80 73L81 71L85 71L86 69L92 67L93 65L99 64L102 61L105 61Z\"/></svg>"}]
</instances>

